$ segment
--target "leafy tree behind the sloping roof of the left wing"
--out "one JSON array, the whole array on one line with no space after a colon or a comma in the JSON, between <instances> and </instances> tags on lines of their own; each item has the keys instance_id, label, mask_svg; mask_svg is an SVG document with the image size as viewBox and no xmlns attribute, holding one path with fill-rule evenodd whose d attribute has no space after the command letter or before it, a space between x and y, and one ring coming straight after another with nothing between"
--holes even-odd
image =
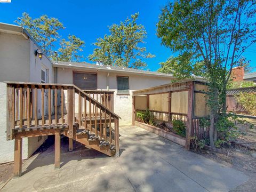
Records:
<instances>
[{"instance_id":1,"label":"leafy tree behind the sloping roof of the left wing","mask_svg":"<svg viewBox=\"0 0 256 192\"><path fill-rule=\"evenodd\" d=\"M54 42L57 42L59 38L58 31L64 29L63 24L58 19L49 18L47 15L32 19L28 13L24 12L22 17L14 22L28 31L47 56L53 56Z\"/></svg>"}]
</instances>

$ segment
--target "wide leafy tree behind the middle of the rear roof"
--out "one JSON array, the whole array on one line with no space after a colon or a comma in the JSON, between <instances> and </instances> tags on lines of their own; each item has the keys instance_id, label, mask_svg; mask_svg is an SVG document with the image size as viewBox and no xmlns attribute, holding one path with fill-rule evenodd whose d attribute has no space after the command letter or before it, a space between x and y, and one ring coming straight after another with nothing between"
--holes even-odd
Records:
<instances>
[{"instance_id":1,"label":"wide leafy tree behind the middle of the rear roof","mask_svg":"<svg viewBox=\"0 0 256 192\"><path fill-rule=\"evenodd\" d=\"M146 47L140 47L147 37L143 25L138 25L139 13L131 15L124 22L113 24L109 29L110 35L98 38L94 43L97 48L89 55L91 61L102 61L104 65L123 66L129 68L146 67L143 58L155 57L146 53Z\"/></svg>"}]
</instances>

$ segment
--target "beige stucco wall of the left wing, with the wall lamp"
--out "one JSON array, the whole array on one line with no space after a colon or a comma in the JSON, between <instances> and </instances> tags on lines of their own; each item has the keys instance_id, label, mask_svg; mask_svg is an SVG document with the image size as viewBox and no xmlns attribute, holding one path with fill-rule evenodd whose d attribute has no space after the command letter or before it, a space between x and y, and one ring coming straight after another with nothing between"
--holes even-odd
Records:
<instances>
[{"instance_id":1,"label":"beige stucco wall of the left wing, with the wall lamp","mask_svg":"<svg viewBox=\"0 0 256 192\"><path fill-rule=\"evenodd\" d=\"M52 81L51 62L45 57L42 60L35 57L36 48L34 42L22 35L0 33L0 163L13 161L14 151L14 140L6 141L6 84L3 82L41 82L42 64L49 67L49 80ZM33 154L45 139L37 142L37 138L24 138L22 158Z\"/></svg>"}]
</instances>

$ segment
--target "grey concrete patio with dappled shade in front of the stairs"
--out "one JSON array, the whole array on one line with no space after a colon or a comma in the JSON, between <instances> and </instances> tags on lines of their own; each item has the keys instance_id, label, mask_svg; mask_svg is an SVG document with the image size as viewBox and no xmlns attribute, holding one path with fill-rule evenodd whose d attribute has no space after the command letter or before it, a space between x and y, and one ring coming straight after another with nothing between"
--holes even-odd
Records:
<instances>
[{"instance_id":1,"label":"grey concrete patio with dappled shade in front of the stairs","mask_svg":"<svg viewBox=\"0 0 256 192\"><path fill-rule=\"evenodd\" d=\"M139 127L121 127L120 134L119 158L89 149L65 152L54 170L49 149L28 159L22 177L3 191L229 191L248 179Z\"/></svg>"}]
</instances>

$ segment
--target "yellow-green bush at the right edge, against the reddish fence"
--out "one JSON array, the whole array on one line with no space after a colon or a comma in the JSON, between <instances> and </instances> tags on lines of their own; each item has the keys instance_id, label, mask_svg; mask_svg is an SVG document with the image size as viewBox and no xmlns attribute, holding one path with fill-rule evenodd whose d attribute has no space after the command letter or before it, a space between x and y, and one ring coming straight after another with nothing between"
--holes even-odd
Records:
<instances>
[{"instance_id":1,"label":"yellow-green bush at the right edge, against the reddish fence","mask_svg":"<svg viewBox=\"0 0 256 192\"><path fill-rule=\"evenodd\" d=\"M235 95L238 103L240 103L250 115L256 116L256 94L240 93Z\"/></svg>"}]
</instances>

